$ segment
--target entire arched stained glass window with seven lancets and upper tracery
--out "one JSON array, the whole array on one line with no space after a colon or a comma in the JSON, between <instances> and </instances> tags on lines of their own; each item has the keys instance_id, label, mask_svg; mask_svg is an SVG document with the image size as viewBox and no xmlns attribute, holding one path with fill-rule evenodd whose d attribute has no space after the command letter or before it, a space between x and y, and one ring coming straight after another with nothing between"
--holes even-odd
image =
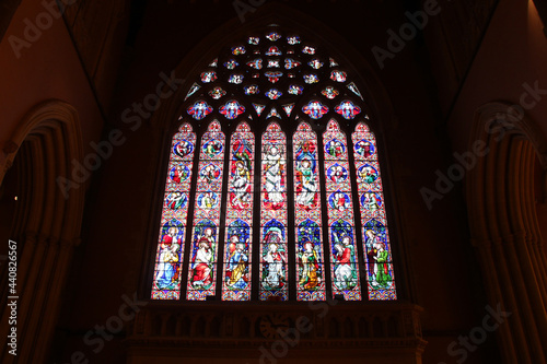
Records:
<instances>
[{"instance_id":1,"label":"entire arched stained glass window with seven lancets and upper tracery","mask_svg":"<svg viewBox=\"0 0 547 364\"><path fill-rule=\"evenodd\" d=\"M280 26L238 40L181 98L152 298L396 300L362 86Z\"/></svg>"}]
</instances>

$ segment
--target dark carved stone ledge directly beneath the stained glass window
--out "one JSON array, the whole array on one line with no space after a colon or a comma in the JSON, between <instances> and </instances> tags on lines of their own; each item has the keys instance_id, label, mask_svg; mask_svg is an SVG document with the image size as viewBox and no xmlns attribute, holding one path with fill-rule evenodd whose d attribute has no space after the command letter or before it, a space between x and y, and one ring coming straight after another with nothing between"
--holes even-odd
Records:
<instances>
[{"instance_id":1,"label":"dark carved stone ledge directly beneath the stained glass window","mask_svg":"<svg viewBox=\"0 0 547 364\"><path fill-rule=\"evenodd\" d=\"M125 345L132 360L160 352L182 359L200 350L200 356L218 357L233 348L241 349L241 355L259 356L260 348L295 340L291 350L296 356L299 351L314 349L327 350L329 355L359 352L365 359L389 350L394 360L400 357L400 363L406 363L404 357L421 357L427 344L421 333L421 310L405 303L151 302L138 313Z\"/></svg>"}]
</instances>

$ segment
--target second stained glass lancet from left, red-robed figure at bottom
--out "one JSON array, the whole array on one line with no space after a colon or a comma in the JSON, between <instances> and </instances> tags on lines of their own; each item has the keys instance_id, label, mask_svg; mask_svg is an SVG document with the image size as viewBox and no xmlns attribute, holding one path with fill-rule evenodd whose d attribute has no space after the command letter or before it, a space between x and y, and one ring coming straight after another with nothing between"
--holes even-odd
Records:
<instances>
[{"instance_id":1,"label":"second stained glass lancet from left, red-robed figure at bottom","mask_svg":"<svg viewBox=\"0 0 547 364\"><path fill-rule=\"evenodd\" d=\"M220 122L214 120L201 138L199 150L188 300L203 301L216 294L223 166L224 134Z\"/></svg>"}]
</instances>

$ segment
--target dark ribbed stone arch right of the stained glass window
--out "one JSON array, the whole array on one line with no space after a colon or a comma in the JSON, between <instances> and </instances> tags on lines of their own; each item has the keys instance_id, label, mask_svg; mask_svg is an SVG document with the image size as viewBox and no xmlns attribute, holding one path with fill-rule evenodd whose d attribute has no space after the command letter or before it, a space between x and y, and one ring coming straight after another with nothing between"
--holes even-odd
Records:
<instances>
[{"instance_id":1,"label":"dark ribbed stone arch right of the stained glass window","mask_svg":"<svg viewBox=\"0 0 547 364\"><path fill-rule=\"evenodd\" d=\"M497 330L499 348L507 363L544 363L547 260L534 168L542 168L545 193L547 142L522 108L499 102L476 111L469 148L477 141L486 145L485 155L475 156L469 168L466 199L489 305L510 313Z\"/></svg>"}]
</instances>

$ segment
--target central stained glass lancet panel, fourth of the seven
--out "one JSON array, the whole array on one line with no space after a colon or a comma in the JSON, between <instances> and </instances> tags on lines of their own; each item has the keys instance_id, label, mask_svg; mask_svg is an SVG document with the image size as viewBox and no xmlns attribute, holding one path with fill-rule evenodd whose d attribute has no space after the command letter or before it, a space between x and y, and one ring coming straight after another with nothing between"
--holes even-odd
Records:
<instances>
[{"instance_id":1,"label":"central stained glass lancet panel, fourth of the seven","mask_svg":"<svg viewBox=\"0 0 547 364\"><path fill-rule=\"evenodd\" d=\"M271 122L261 140L260 300L288 300L287 143Z\"/></svg>"}]
</instances>

